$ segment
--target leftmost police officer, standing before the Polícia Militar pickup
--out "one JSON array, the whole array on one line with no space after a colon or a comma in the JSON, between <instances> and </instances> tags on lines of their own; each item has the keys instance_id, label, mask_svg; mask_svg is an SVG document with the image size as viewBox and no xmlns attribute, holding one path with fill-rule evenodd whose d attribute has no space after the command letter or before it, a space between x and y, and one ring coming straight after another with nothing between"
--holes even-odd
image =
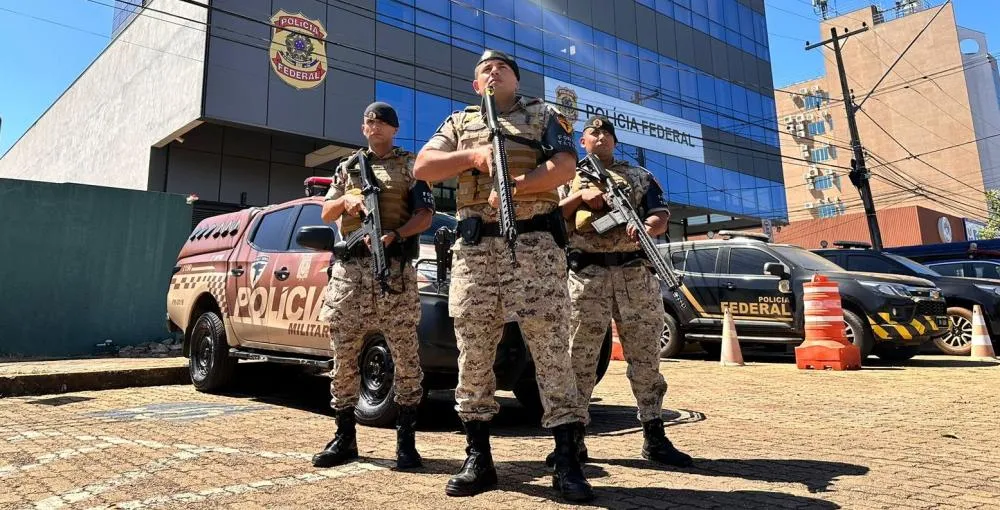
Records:
<instances>
[{"instance_id":1,"label":"leftmost police officer, standing before the Pol\u00edcia Militar pickup","mask_svg":"<svg viewBox=\"0 0 1000 510\"><path fill-rule=\"evenodd\" d=\"M352 253L337 258L330 269L320 319L330 321L334 353L330 405L336 413L337 432L326 448L313 456L316 467L336 466L358 457L354 419L360 390L358 358L365 341L377 333L389 345L395 365L393 390L400 406L396 466L421 465L414 445L417 405L423 396L417 353L420 296L410 260L419 248L419 234L431 225L434 197L426 182L413 177L413 154L392 145L398 130L396 111L388 104L375 102L365 110L361 131L368 139L368 148L364 150L380 183L379 210L385 232L381 239L367 239L366 243L386 246L391 290L382 295L372 277L370 244L359 244ZM323 204L323 221L337 221L346 237L361 227L359 216L363 212L360 173L341 164Z\"/></svg>"}]
</instances>

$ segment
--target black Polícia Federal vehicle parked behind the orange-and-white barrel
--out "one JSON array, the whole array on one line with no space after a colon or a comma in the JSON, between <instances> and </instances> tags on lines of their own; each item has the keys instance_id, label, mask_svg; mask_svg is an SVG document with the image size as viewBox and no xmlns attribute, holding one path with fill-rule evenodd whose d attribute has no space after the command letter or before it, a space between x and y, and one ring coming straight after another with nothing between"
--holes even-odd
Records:
<instances>
[{"instance_id":1,"label":"black Pol\u00edcia Federal vehicle parked behind the orange-and-white barrel","mask_svg":"<svg viewBox=\"0 0 1000 510\"><path fill-rule=\"evenodd\" d=\"M944 299L931 282L844 271L808 250L766 239L723 231L711 240L660 246L681 275L693 311L679 314L676 299L663 293L662 354L676 355L687 342L717 354L727 309L741 344L798 345L804 339L802 284L817 273L839 284L845 332L862 357L907 360L921 343L947 332ZM685 316L689 319L679 320Z\"/></svg>"}]
</instances>

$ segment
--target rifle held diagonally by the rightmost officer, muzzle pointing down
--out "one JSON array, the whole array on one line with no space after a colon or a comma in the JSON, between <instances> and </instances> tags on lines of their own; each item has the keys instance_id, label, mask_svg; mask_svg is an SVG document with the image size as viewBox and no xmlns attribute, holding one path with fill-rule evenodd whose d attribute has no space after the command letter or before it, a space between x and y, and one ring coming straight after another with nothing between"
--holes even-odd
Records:
<instances>
[{"instance_id":1,"label":"rifle held diagonally by the rightmost officer, muzzle pointing down","mask_svg":"<svg viewBox=\"0 0 1000 510\"><path fill-rule=\"evenodd\" d=\"M653 242L653 238L646 232L645 222L642 221L642 218L639 217L639 214L629 202L628 195L626 194L627 188L615 182L611 174L604 168L601 160L593 154L587 154L587 157L580 160L577 164L577 170L583 178L604 189L604 200L611 208L611 212L594 220L592 223L594 230L598 234L603 234L621 224L631 226L635 229L636 235L639 237L639 246L646 255L646 259L653 265L653 271L656 272L656 276L667 285L667 288L674 294L674 298L676 298L679 305L687 308L687 301L679 292L681 286L680 278L674 272L673 265L660 254L660 251L656 248L656 243Z\"/></svg>"}]
</instances>

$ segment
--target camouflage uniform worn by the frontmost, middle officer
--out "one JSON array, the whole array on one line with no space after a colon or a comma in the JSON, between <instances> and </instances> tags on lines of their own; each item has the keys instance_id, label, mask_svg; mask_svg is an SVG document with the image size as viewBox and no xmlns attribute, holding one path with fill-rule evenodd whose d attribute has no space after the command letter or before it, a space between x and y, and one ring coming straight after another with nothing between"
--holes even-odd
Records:
<instances>
[{"instance_id":1,"label":"camouflage uniform worn by the frontmost, middle officer","mask_svg":"<svg viewBox=\"0 0 1000 510\"><path fill-rule=\"evenodd\" d=\"M570 124L554 108L538 99L518 98L510 112L498 114L504 131L551 147L550 154L576 156ZM478 107L466 108L445 120L424 149L446 152L481 147L489 130ZM512 176L531 171L539 152L513 140L507 142ZM497 221L496 209L486 203L492 178L485 172L459 177L458 219L479 217ZM551 213L558 207L558 193L515 194L518 220ZM518 237L514 268L508 248L499 237L483 237L479 244L459 239L453 248L448 302L455 318L459 348L456 410L463 422L489 421L498 411L494 398L493 363L504 323L517 321L535 363L544 414L542 426L553 428L583 422L586 412L575 399L576 385L569 358L569 294L566 287L565 252L548 232L522 233Z\"/></svg>"}]
</instances>

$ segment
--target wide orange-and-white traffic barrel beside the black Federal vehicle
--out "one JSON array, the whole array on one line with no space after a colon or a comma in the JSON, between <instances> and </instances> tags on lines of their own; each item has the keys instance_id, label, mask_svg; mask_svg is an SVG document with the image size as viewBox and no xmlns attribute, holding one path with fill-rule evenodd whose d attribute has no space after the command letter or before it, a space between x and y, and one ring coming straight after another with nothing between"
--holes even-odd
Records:
<instances>
[{"instance_id":1,"label":"wide orange-and-white traffic barrel beside the black Federal vehicle","mask_svg":"<svg viewBox=\"0 0 1000 510\"><path fill-rule=\"evenodd\" d=\"M802 284L806 338L795 348L800 369L858 370L861 351L844 334L840 288L823 275Z\"/></svg>"}]
</instances>

